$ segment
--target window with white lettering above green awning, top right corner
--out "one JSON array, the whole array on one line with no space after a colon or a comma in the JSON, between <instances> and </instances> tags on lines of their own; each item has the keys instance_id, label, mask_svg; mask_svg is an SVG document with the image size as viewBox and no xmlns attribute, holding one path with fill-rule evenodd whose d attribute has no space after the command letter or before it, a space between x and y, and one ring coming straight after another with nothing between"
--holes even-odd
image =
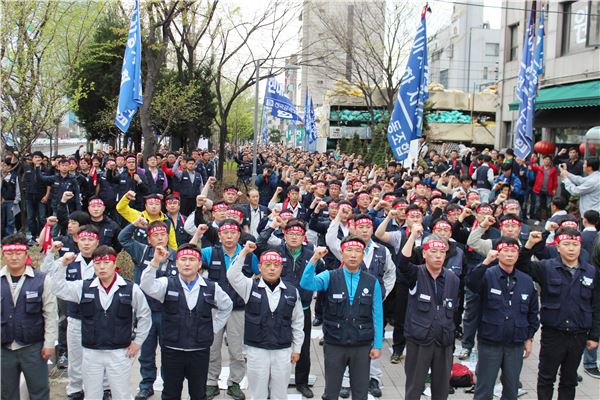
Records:
<instances>
[{"instance_id":1,"label":"window with white lettering above green awning, top right corner","mask_svg":"<svg viewBox=\"0 0 600 400\"><path fill-rule=\"evenodd\" d=\"M591 29L598 30L598 18L594 17L593 23L588 15L589 10L598 9L590 3L584 1L572 1L561 3L562 7L562 37L561 37L561 55L577 53L585 50L588 43L588 26ZM590 32L591 41L594 41L595 32Z\"/></svg>"}]
</instances>

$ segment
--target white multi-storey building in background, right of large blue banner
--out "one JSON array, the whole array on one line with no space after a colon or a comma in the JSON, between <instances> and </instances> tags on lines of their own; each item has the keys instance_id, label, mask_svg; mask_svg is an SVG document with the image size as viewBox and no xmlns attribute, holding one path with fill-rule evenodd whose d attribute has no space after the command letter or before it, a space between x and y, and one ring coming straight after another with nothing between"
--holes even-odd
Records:
<instances>
[{"instance_id":1,"label":"white multi-storey building in background, right of large blue banner","mask_svg":"<svg viewBox=\"0 0 600 400\"><path fill-rule=\"evenodd\" d=\"M498 80L500 30L483 21L483 7L454 4L451 23L428 44L429 79L446 89L476 91Z\"/></svg>"}]
</instances>

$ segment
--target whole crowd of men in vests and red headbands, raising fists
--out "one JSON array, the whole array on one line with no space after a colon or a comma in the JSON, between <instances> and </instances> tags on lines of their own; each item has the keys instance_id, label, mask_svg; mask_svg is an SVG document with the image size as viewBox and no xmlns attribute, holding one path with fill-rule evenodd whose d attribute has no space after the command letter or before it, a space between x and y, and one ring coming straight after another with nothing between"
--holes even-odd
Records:
<instances>
[{"instance_id":1,"label":"whole crowd of men in vests and red headbands, raising fists","mask_svg":"<svg viewBox=\"0 0 600 400\"><path fill-rule=\"evenodd\" d=\"M246 376L251 398L286 399L292 372L312 398L313 326L328 400L382 396L386 326L407 399L426 381L447 398L458 344L460 360L478 354L475 399L499 375L516 399L540 327L539 399L557 377L574 399L582 357L600 378L597 157L422 142L405 168L263 146L253 182L250 148L233 158L236 184L217 182L209 150L4 160L2 400L19 398L21 374L32 400L48 399L52 357L68 399L130 399L138 353L136 400L154 395L159 369L163 399L181 398L184 379L192 399L213 399L224 347L231 398L245 399ZM30 236L14 233L19 206Z\"/></svg>"}]
</instances>

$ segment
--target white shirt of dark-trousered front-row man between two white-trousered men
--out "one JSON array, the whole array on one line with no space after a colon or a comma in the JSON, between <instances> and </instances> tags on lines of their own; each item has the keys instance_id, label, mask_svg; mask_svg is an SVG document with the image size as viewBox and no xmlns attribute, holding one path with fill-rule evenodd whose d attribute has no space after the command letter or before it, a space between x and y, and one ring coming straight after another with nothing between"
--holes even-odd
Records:
<instances>
[{"instance_id":1,"label":"white shirt of dark-trousered front-row man between two white-trousered men","mask_svg":"<svg viewBox=\"0 0 600 400\"><path fill-rule=\"evenodd\" d=\"M165 295L167 294L167 286L169 284L169 278L166 276L156 277L156 268L148 266L148 268L142 271L142 277L140 278L140 287L148 296L160 301L165 301ZM185 301L188 309L192 310L198 303L198 295L200 294L200 286L206 286L206 281L200 275L198 280L192 286L188 288L187 284L179 277L183 293L185 295ZM215 283L215 304L216 309L212 311L213 320L213 332L218 332L227 323L227 319L233 310L233 302L229 298L229 295L221 289L219 284Z\"/></svg>"}]
</instances>

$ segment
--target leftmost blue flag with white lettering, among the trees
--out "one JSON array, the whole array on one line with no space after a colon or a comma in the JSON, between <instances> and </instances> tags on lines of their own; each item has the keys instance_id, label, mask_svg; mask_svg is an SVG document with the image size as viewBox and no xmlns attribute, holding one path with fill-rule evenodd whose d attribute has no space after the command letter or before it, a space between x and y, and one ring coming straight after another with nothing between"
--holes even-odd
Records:
<instances>
[{"instance_id":1,"label":"leftmost blue flag with white lettering, among the trees","mask_svg":"<svg viewBox=\"0 0 600 400\"><path fill-rule=\"evenodd\" d=\"M127 132L129 124L137 109L144 104L142 98L142 35L140 33L140 4L135 0L131 23L129 24L129 36L123 57L123 68L121 69L121 89L119 91L119 105L115 124Z\"/></svg>"}]
</instances>

